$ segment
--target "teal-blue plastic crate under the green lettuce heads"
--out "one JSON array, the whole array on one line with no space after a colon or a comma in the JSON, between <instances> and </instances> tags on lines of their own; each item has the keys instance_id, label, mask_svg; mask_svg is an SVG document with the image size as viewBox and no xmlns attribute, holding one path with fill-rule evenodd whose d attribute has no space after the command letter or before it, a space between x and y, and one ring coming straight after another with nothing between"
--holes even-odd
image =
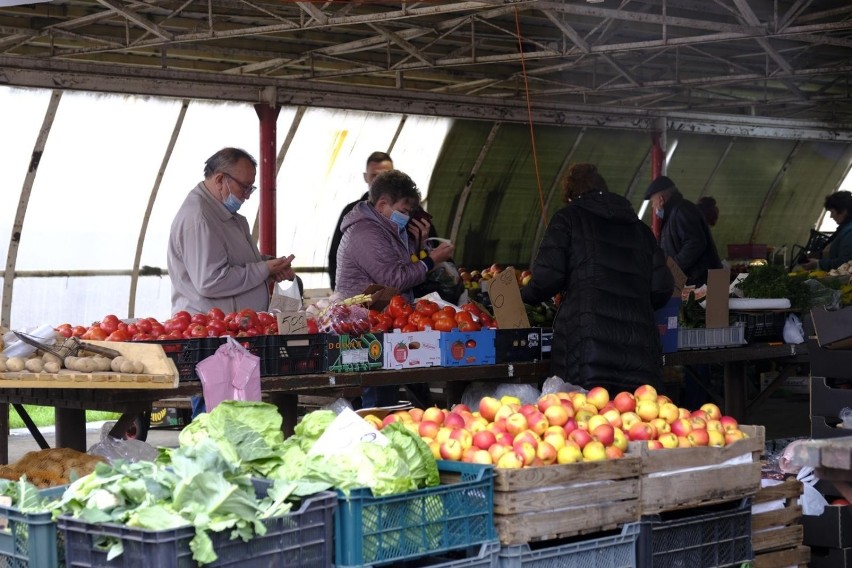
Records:
<instances>
[{"instance_id":1,"label":"teal-blue plastic crate under the green lettuce heads","mask_svg":"<svg viewBox=\"0 0 852 568\"><path fill-rule=\"evenodd\" d=\"M494 468L439 460L438 469L440 485L408 493L338 491L335 566L399 566L494 541Z\"/></svg>"}]
</instances>

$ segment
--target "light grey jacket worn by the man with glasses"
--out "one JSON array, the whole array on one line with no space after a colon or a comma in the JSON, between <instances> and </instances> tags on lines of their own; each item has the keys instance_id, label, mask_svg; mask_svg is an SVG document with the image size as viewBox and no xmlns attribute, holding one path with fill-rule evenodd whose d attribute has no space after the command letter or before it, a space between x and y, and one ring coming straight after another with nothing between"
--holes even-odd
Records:
<instances>
[{"instance_id":1,"label":"light grey jacket worn by the man with glasses","mask_svg":"<svg viewBox=\"0 0 852 568\"><path fill-rule=\"evenodd\" d=\"M232 215L202 183L172 221L168 251L172 313L210 308L269 308L269 268L251 239L248 221Z\"/></svg>"}]
</instances>

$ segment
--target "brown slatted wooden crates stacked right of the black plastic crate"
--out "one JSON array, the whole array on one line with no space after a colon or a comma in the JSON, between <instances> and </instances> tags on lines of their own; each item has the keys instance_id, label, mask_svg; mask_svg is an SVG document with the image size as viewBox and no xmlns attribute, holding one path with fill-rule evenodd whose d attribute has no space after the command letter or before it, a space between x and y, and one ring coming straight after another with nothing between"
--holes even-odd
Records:
<instances>
[{"instance_id":1,"label":"brown slatted wooden crates stacked right of the black plastic crate","mask_svg":"<svg viewBox=\"0 0 852 568\"><path fill-rule=\"evenodd\" d=\"M755 568L784 568L807 565L810 548L802 545L802 482L796 479L770 487L762 487L753 504L780 501L783 507L752 515L751 543L755 553Z\"/></svg>"}]
</instances>

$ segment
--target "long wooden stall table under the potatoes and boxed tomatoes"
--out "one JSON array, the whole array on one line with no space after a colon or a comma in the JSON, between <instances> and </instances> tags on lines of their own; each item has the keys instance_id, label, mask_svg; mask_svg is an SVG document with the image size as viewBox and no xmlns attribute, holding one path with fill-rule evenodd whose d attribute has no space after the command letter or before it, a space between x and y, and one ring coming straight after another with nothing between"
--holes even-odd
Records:
<instances>
[{"instance_id":1,"label":"long wooden stall table under the potatoes and boxed tomatoes","mask_svg":"<svg viewBox=\"0 0 852 568\"><path fill-rule=\"evenodd\" d=\"M264 398L278 407L284 424L285 434L290 435L296 425L299 395L322 395L341 388L380 385L405 385L429 383L447 385L450 393L458 394L464 383L481 380L503 382L537 382L547 376L549 361L529 363L504 363L474 367L427 367L406 370L379 370L361 373L322 373L314 375L288 375L262 377L261 391ZM140 412L150 411L154 402L177 396L201 394L201 383L183 381L174 388L134 388L131 383L123 388L25 388L8 381L3 388L0 383L0 404L31 404L56 408L56 445L86 451L86 410L120 412L121 418L113 428L113 435L120 437L127 426ZM104 383L107 384L107 383ZM82 387L82 385L81 385ZM8 416L4 413L3 416ZM5 422L5 421L4 421ZM0 435L0 462L9 458L8 423ZM34 425L30 432L40 437Z\"/></svg>"}]
</instances>

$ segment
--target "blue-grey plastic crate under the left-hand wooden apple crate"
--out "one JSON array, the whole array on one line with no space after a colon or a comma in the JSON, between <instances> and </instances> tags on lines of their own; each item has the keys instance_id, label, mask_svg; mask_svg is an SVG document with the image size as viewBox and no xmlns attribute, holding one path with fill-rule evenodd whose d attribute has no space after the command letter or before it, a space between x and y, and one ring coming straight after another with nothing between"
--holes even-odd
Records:
<instances>
[{"instance_id":1,"label":"blue-grey plastic crate under the left-hand wooden apple crate","mask_svg":"<svg viewBox=\"0 0 852 568\"><path fill-rule=\"evenodd\" d=\"M639 524L624 525L615 534L569 541L544 541L504 546L500 568L634 568Z\"/></svg>"}]
</instances>

